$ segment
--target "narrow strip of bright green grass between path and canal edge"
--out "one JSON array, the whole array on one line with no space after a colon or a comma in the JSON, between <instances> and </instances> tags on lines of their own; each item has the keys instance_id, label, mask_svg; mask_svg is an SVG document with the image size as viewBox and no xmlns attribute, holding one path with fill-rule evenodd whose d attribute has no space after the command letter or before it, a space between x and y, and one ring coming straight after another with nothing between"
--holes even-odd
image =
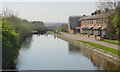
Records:
<instances>
[{"instance_id":1,"label":"narrow strip of bright green grass between path and canal edge","mask_svg":"<svg viewBox=\"0 0 120 72\"><path fill-rule=\"evenodd\" d=\"M88 44L90 46L93 46L93 47L96 47L96 48L99 48L99 49L102 49L102 50L105 50L107 52L110 52L110 53L113 53L113 54L116 54L116 55L120 56L120 51L118 51L116 49L112 49L112 48L102 46L102 45L99 45L99 44L95 44L95 43L92 43L92 42L88 42L88 41L81 41L81 40L76 40L76 41L82 42L84 44Z\"/></svg>"}]
</instances>

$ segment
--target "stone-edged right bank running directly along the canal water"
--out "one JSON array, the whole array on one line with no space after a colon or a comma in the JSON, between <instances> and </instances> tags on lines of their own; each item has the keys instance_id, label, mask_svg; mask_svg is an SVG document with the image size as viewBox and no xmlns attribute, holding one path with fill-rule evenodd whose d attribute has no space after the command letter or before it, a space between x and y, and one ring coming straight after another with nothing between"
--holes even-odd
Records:
<instances>
[{"instance_id":1,"label":"stone-edged right bank running directly along the canal water","mask_svg":"<svg viewBox=\"0 0 120 72\"><path fill-rule=\"evenodd\" d=\"M90 45L87 45L87 44L84 44L84 43L81 43L81 42L77 42L74 37L73 38L68 37L66 35L66 33L62 33L62 35L60 35L60 34L54 34L54 33L51 33L51 32L48 32L48 33L52 34L52 35L54 35L54 36L56 36L58 38L61 38L61 39L65 40L65 41L68 41L71 44L73 44L73 45L75 45L75 46L77 46L79 48L85 48L85 49L87 49L89 51L92 51L94 54L102 56L105 59L107 59L108 61L111 61L111 62L113 62L115 64L120 65L120 56L118 56L118 55L112 54L110 52L98 49L96 47L93 47L93 46L90 46Z\"/></svg>"}]
</instances>

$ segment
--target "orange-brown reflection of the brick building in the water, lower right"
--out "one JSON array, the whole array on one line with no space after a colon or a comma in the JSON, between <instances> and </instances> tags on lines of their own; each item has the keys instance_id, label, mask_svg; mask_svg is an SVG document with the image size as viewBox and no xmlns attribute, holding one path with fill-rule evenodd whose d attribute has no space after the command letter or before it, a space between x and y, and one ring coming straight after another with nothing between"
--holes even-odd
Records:
<instances>
[{"instance_id":1,"label":"orange-brown reflection of the brick building in the water, lower right","mask_svg":"<svg viewBox=\"0 0 120 72\"><path fill-rule=\"evenodd\" d=\"M111 63L104 59L103 57L97 56L93 52L89 52L89 50L85 50L84 48L81 48L81 53L85 55L86 57L90 58L93 65L98 69L98 70L119 70L120 66Z\"/></svg>"}]
</instances>

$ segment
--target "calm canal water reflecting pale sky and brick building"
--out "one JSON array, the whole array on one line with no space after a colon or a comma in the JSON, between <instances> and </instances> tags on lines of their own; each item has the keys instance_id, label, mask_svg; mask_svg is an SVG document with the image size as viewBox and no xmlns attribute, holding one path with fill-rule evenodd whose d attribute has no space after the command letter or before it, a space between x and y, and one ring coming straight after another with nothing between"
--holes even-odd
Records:
<instances>
[{"instance_id":1,"label":"calm canal water reflecting pale sky and brick building","mask_svg":"<svg viewBox=\"0 0 120 72\"><path fill-rule=\"evenodd\" d=\"M18 70L117 70L119 66L53 35L33 35L21 45Z\"/></svg>"}]
</instances>

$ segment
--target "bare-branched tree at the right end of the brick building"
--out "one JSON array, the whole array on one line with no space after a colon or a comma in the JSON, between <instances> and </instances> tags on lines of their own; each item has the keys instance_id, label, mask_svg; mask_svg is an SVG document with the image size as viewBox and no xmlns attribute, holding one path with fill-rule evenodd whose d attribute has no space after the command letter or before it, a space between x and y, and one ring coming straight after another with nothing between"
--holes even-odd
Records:
<instances>
[{"instance_id":1,"label":"bare-branched tree at the right end of the brick building","mask_svg":"<svg viewBox=\"0 0 120 72\"><path fill-rule=\"evenodd\" d=\"M112 39L113 34L116 33L113 18L118 3L119 0L99 0L98 2L98 8L102 11L101 15L107 19L107 35L109 39Z\"/></svg>"}]
</instances>

